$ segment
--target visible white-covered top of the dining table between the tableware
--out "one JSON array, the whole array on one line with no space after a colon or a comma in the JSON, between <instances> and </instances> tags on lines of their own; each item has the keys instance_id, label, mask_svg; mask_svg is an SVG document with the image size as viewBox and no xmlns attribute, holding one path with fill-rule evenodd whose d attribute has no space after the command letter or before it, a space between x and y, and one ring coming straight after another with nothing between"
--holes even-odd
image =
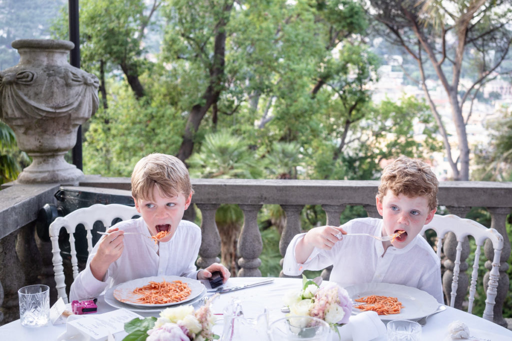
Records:
<instances>
[{"instance_id":1,"label":"visible white-covered top of the dining table between the tableware","mask_svg":"<svg viewBox=\"0 0 512 341\"><path fill-rule=\"evenodd\" d=\"M220 334L223 331L222 328L222 314L226 310L226 307L239 300L241 302L253 302L264 306L268 311L268 323L272 323L281 317L287 315L284 297L290 291L300 291L303 286L303 280L301 278L265 278L265 277L231 277L222 286L222 288L232 288L238 286L244 286L247 284L259 283L263 280L271 279L266 284L252 286L240 290L233 290L225 293L215 295L215 292L209 286L207 281L201 281L206 287L204 292L205 297L212 298L211 310L219 318L220 323L217 324L214 331L216 334ZM322 285L329 284L328 281L324 281ZM97 312L96 314L102 314L121 309L122 307L118 303L114 302L111 292L106 291L97 298ZM215 295L215 297L214 297ZM195 308L203 304L204 300L195 300L190 302ZM68 304L69 307L69 304ZM137 309L134 307L134 312L140 316L159 316L159 311L165 308L158 308L151 311ZM92 314L90 314L92 315ZM84 316L84 315L82 315ZM353 312L350 316L349 323L339 326L339 335L331 333L332 340L348 341L353 339L353 331L351 330L351 322L357 316L356 312ZM385 317L380 317L383 324L386 324ZM354 320L355 321L355 320ZM426 324L422 326L421 340L425 341L443 341L451 340L450 337L450 325L452 322L460 322L468 327L470 336L467 339L477 341L501 341L501 340L512 340L512 331L508 330L498 324L491 321L482 319L474 314L467 313L463 310L455 309L452 307L446 307L445 310L432 314L426 320ZM365 326L359 325L358 328L365 328ZM369 327L371 328L371 327ZM46 325L41 327L25 327L20 324L19 320L10 322L0 327L0 339L2 340L57 340L66 339L62 338L61 335L66 333L66 323L53 325L48 322ZM115 340L122 340L127 333L120 331L113 335ZM60 337L60 338L59 338ZM70 340L76 338L70 338ZM106 339L106 338L105 338ZM112 339L112 338L111 338ZM251 340L251 335L248 335L244 340ZM387 340L385 333L381 333L374 337L373 340L384 341ZM460 340L460 339L459 339Z\"/></svg>"}]
</instances>

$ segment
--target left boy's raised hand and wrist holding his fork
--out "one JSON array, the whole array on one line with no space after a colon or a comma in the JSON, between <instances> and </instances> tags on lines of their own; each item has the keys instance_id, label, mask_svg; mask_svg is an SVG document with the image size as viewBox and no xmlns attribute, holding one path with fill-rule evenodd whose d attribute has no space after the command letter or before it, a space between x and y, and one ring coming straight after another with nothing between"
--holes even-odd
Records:
<instances>
[{"instance_id":1,"label":"left boy's raised hand and wrist holding his fork","mask_svg":"<svg viewBox=\"0 0 512 341\"><path fill-rule=\"evenodd\" d=\"M104 236L99 241L98 250L91 260L90 267L92 274L98 281L103 281L110 264L121 257L124 249L124 231L118 228L110 228L106 231L108 236Z\"/></svg>"}]
</instances>

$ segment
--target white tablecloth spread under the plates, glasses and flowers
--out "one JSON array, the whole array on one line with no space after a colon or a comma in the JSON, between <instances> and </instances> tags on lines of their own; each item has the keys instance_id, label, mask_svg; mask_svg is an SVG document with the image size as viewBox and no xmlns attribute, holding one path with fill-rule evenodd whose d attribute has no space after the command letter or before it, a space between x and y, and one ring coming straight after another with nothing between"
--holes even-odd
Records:
<instances>
[{"instance_id":1,"label":"white tablecloth spread under the plates, glasses and flowers","mask_svg":"<svg viewBox=\"0 0 512 341\"><path fill-rule=\"evenodd\" d=\"M259 282L263 278L231 278L226 283L226 287L238 286L248 283ZM208 285L208 284L206 284ZM223 293L212 304L214 313L222 313L226 305L228 305L233 298L239 298L242 301L259 301L262 302L269 310L270 322L279 317L284 317L285 314L281 312L283 306L283 296L289 290L300 290L302 285L301 279L296 278L275 278L271 284L256 286L243 290ZM98 313L112 311L115 308L105 303L103 296L98 298ZM158 312L141 313L143 316L158 316ZM437 313L429 317L428 322L422 328L422 340L425 341L443 341L447 335L448 326L453 321L461 321L469 328L472 336L479 337L481 340L512 340L512 331L503 328L495 323L486 321L476 315L468 314L467 312L447 307L443 312ZM348 325L346 325L348 326ZM339 328L343 340L350 340L349 335L342 326ZM2 340L55 340L60 334L66 331L66 325L52 325L48 323L46 326L31 328L23 327L19 320L6 324L0 327L0 339ZM117 339L122 339L123 335L116 335ZM478 339L478 338L477 338ZM386 337L382 336L375 339L376 341L385 341ZM245 340L241 340L245 341Z\"/></svg>"}]
</instances>

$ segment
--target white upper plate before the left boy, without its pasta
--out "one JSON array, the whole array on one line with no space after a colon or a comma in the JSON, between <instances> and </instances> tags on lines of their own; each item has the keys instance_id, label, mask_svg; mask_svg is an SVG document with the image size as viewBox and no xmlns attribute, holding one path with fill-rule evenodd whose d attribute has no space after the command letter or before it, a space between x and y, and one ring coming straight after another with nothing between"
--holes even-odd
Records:
<instances>
[{"instance_id":1,"label":"white upper plate before the left boy, without its pasta","mask_svg":"<svg viewBox=\"0 0 512 341\"><path fill-rule=\"evenodd\" d=\"M163 303L163 304L147 304L147 303L140 303L137 301L137 299L140 297L138 294L133 293L133 290L136 288L142 287L144 285L150 284L150 282L162 282L165 280L166 282L173 282L173 281L182 281L183 283L187 283L188 287L190 288L190 294L187 298L185 298L182 301L179 302L170 302L170 303ZM153 277L145 277L145 278L138 278L136 280L128 281L119 284L114 289L114 298L118 300L119 302L134 305L137 307L167 307L177 304L182 304L185 302L188 302L190 300L195 299L198 297L202 290L204 285L201 284L198 280L193 280L191 278L186 277L180 277L180 276L153 276Z\"/></svg>"}]
</instances>

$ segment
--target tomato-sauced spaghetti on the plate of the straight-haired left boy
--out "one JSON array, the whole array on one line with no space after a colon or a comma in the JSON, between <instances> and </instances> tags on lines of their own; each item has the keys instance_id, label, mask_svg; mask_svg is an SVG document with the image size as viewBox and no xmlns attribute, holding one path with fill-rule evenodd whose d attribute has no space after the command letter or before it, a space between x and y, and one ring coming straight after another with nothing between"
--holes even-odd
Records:
<instances>
[{"instance_id":1,"label":"tomato-sauced spaghetti on the plate of the straight-haired left boy","mask_svg":"<svg viewBox=\"0 0 512 341\"><path fill-rule=\"evenodd\" d=\"M139 294L137 299L143 304L165 304L181 302L189 297L191 290L187 283L182 281L173 282L150 282L143 287L135 288L133 293Z\"/></svg>"}]
</instances>

